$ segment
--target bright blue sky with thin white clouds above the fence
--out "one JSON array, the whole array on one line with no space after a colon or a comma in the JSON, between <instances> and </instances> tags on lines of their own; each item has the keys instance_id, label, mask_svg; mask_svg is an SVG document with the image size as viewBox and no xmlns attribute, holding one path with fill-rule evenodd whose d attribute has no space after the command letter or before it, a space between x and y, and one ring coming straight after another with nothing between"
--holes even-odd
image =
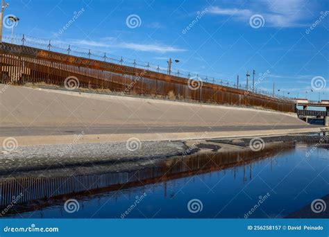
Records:
<instances>
[{"instance_id":1,"label":"bright blue sky with thin white clouds above the fence","mask_svg":"<svg viewBox=\"0 0 329 237\"><path fill-rule=\"evenodd\" d=\"M319 94L329 99L326 0L7 2L4 15L20 19L17 37L56 40L162 67L171 57L180 60L175 69L232 82L237 74L245 82L246 71L255 69L260 89L271 91L275 82L280 93L305 98L308 91L309 99ZM10 32L4 28L5 35ZM314 90L314 77L325 85Z\"/></svg>"}]
</instances>

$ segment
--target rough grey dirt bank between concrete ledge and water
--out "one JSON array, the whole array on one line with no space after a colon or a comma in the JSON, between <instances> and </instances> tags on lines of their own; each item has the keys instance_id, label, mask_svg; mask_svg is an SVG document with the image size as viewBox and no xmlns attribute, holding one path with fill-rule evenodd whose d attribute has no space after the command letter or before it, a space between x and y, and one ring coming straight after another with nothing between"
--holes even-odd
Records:
<instances>
[{"instance_id":1,"label":"rough grey dirt bank between concrete ledge and water","mask_svg":"<svg viewBox=\"0 0 329 237\"><path fill-rule=\"evenodd\" d=\"M319 135L203 139L190 141L130 141L69 145L19 146L0 153L0 179L8 177L49 177L123 172L156 166L171 158L195 152L236 152L271 146L295 146L298 141L317 143ZM324 143L324 142L323 142Z\"/></svg>"}]
</instances>

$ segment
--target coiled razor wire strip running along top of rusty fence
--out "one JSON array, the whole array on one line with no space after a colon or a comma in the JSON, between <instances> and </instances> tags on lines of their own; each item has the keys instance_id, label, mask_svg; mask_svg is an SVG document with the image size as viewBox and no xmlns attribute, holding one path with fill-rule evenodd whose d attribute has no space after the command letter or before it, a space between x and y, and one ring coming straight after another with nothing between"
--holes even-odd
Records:
<instances>
[{"instance_id":1,"label":"coiled razor wire strip running along top of rusty fence","mask_svg":"<svg viewBox=\"0 0 329 237\"><path fill-rule=\"evenodd\" d=\"M119 57L116 55L112 55L110 53L96 51L92 49L83 49L81 47L74 46L72 44L67 44L66 42L60 42L56 40L43 40L35 37L30 37L26 35L15 35L15 36L9 36L5 35L3 36L3 42L7 42L10 44L17 44L17 45L23 45L23 46L31 46L33 48L37 49L43 49L47 51L52 51L56 53L62 53L66 55L73 55L81 58L88 58L92 60L99 60L103 62L111 62L114 64L120 64L123 66L128 67L135 67L137 69L144 69L147 71L154 71L158 73L170 73L173 76L178 76L180 78L185 78L186 80L189 80L190 78L194 80L201 80L202 82L208 82L212 83L214 85L221 85L224 87L231 87L231 88L237 88L237 89L243 89L248 92L253 92L255 94L262 94L264 96L274 97L274 98L280 98L283 100L292 100L292 98L280 96L277 94L274 94L273 92L269 92L264 89L259 89L252 86L247 86L242 83L237 84L237 82L232 82L229 80L221 80L214 77L208 77L201 75L199 73L190 73L188 71L185 71L183 69L172 69L170 72L168 72L167 67L160 67L158 64L152 64L149 62L144 61L137 61L135 59L130 59L126 57Z\"/></svg>"}]
</instances>

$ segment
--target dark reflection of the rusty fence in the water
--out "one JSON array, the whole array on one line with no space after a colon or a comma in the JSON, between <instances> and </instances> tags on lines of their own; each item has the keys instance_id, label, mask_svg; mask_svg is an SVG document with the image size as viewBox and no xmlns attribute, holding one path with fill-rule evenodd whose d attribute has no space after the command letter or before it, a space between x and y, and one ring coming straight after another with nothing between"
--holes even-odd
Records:
<instances>
[{"instance_id":1,"label":"dark reflection of the rusty fence in the water","mask_svg":"<svg viewBox=\"0 0 329 237\"><path fill-rule=\"evenodd\" d=\"M106 173L99 175L80 175L72 177L24 177L0 183L0 207L17 199L19 204L30 200L56 198L76 193L92 194L100 188L117 190L127 186L153 184L162 180L187 177L195 174L221 170L232 166L248 164L255 159L264 159L289 148L267 148L260 152L246 150L242 152L217 153L211 160L207 155L192 155L184 159L172 159L158 167L143 170Z\"/></svg>"}]
</instances>

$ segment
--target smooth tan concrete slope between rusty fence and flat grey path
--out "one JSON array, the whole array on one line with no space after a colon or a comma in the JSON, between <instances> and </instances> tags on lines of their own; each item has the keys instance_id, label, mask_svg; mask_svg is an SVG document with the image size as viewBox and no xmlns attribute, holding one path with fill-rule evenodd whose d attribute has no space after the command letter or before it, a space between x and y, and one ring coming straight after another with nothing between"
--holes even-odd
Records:
<instances>
[{"instance_id":1,"label":"smooth tan concrete slope between rusty fence and flat grey path","mask_svg":"<svg viewBox=\"0 0 329 237\"><path fill-rule=\"evenodd\" d=\"M27 87L8 87L0 103L1 126L306 125L293 116L256 109Z\"/></svg>"}]
</instances>

